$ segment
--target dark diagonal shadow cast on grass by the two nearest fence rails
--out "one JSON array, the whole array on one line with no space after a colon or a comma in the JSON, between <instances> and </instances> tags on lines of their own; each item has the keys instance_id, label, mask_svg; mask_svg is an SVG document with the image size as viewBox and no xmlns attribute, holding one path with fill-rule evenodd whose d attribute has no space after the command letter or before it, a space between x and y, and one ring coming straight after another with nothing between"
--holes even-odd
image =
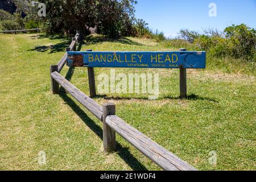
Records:
<instances>
[{"instance_id":1,"label":"dark diagonal shadow cast on grass by the two nearest fence rails","mask_svg":"<svg viewBox=\"0 0 256 182\"><path fill-rule=\"evenodd\" d=\"M84 123L101 139L103 140L103 132L98 126L77 104L66 94L60 93L60 97L75 111L75 113L84 121ZM147 168L143 166L129 151L128 148L122 147L117 142L117 154L135 171L146 171Z\"/></svg>"}]
</instances>

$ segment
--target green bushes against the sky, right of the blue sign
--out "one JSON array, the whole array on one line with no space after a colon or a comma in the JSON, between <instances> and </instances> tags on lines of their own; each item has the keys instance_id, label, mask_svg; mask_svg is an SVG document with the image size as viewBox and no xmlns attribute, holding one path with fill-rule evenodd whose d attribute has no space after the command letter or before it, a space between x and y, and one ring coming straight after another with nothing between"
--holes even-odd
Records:
<instances>
[{"instance_id":1,"label":"green bushes against the sky, right of the blue sign","mask_svg":"<svg viewBox=\"0 0 256 182\"><path fill-rule=\"evenodd\" d=\"M204 30L204 34L181 30L180 36L187 41L186 47L207 51L213 56L231 56L236 59L255 61L256 30L245 24L233 24L226 27L224 32ZM171 42L175 43L173 40Z\"/></svg>"}]
</instances>

